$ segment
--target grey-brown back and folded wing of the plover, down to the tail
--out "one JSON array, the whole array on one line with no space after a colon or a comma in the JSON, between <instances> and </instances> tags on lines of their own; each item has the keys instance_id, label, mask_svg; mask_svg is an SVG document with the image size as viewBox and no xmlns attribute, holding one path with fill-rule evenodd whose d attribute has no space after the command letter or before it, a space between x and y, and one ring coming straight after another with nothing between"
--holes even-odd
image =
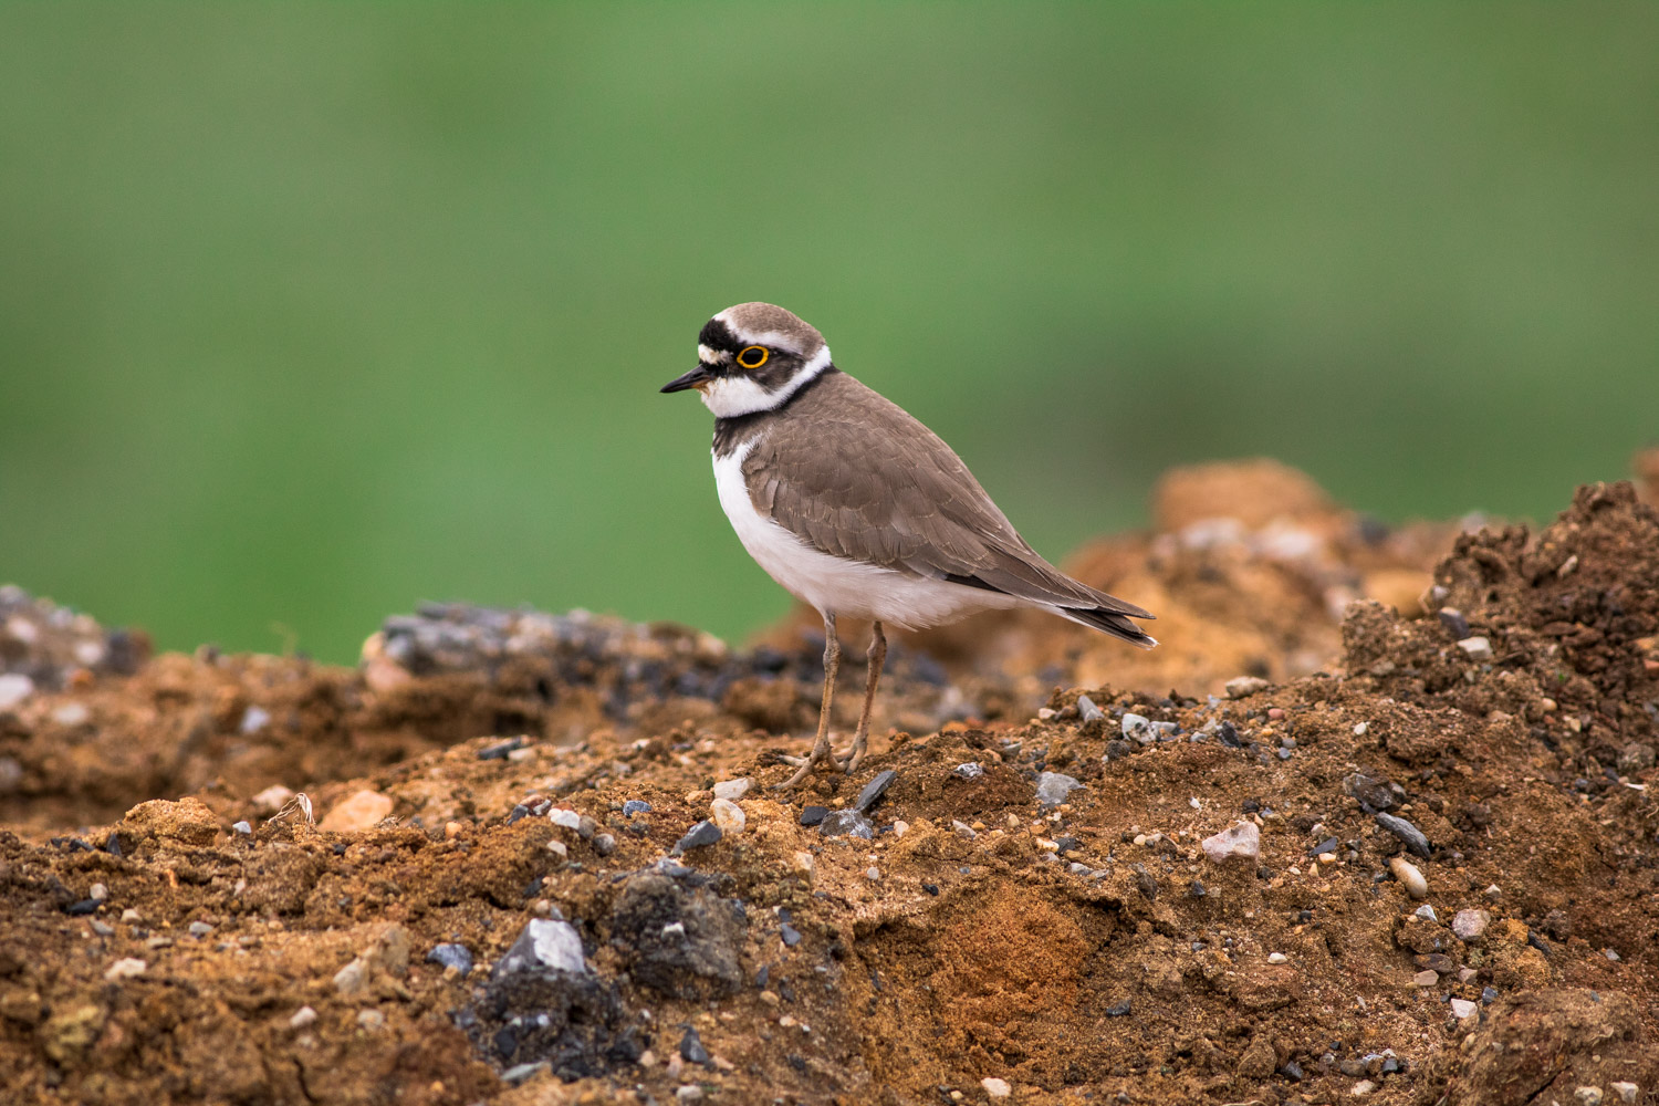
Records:
<instances>
[{"instance_id":1,"label":"grey-brown back and folded wing of the plover, down to the tail","mask_svg":"<svg viewBox=\"0 0 1659 1106\"><path fill-rule=\"evenodd\" d=\"M1044 560L937 434L846 373L791 405L790 426L806 433L763 434L743 476L755 509L815 549L1035 604L1153 617Z\"/></svg>"}]
</instances>

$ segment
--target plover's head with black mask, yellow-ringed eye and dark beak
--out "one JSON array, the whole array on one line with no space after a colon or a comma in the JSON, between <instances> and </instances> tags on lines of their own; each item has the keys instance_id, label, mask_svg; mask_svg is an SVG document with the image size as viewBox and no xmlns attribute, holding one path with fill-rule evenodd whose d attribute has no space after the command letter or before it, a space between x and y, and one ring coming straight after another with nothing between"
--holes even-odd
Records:
<instances>
[{"instance_id":1,"label":"plover's head with black mask, yellow-ringed eye and dark beak","mask_svg":"<svg viewBox=\"0 0 1659 1106\"><path fill-rule=\"evenodd\" d=\"M738 303L697 335L697 368L664 391L697 388L717 418L768 411L830 368L830 347L810 323L771 303Z\"/></svg>"}]
</instances>

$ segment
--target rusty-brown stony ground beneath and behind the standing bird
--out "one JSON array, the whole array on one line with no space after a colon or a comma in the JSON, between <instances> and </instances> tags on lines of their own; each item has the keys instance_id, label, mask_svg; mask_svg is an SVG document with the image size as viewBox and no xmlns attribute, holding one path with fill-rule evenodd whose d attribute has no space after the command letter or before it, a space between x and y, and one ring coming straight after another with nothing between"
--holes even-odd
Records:
<instances>
[{"instance_id":1,"label":"rusty-brown stony ground beneath and behind the standing bird","mask_svg":"<svg viewBox=\"0 0 1659 1106\"><path fill-rule=\"evenodd\" d=\"M1070 562L1160 650L906 638L795 794L813 618L333 668L0 590L0 1101L1659 1101L1649 461L1538 534L1175 473Z\"/></svg>"}]
</instances>

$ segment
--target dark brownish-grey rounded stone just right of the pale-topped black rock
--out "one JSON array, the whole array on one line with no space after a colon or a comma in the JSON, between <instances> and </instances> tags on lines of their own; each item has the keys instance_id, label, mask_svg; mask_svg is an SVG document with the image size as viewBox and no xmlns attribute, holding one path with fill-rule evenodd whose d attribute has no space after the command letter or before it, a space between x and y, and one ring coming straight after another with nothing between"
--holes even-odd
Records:
<instances>
[{"instance_id":1,"label":"dark brownish-grey rounded stone just right of the pale-topped black rock","mask_svg":"<svg viewBox=\"0 0 1659 1106\"><path fill-rule=\"evenodd\" d=\"M743 904L662 872L629 877L611 919L611 943L642 987L697 1000L743 983Z\"/></svg>"}]
</instances>

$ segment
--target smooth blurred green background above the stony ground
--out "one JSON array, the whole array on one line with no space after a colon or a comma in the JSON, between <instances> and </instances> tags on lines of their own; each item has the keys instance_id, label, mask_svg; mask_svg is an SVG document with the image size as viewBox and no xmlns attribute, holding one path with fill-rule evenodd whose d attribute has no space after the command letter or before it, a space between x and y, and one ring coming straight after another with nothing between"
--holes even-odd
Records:
<instances>
[{"instance_id":1,"label":"smooth blurred green background above the stony ground","mask_svg":"<svg viewBox=\"0 0 1659 1106\"><path fill-rule=\"evenodd\" d=\"M1548 517L1659 429L1659 5L0 5L0 580L350 660L742 635L763 298L1060 555L1272 454Z\"/></svg>"}]
</instances>

